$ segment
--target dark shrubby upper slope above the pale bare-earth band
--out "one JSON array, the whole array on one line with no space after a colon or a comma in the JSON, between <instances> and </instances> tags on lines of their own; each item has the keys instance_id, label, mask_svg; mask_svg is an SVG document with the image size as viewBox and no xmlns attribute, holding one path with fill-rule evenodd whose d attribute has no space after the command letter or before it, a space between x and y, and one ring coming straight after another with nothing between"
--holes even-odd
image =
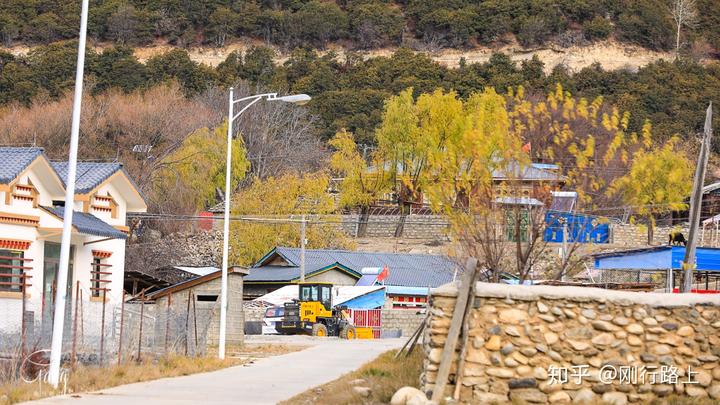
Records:
<instances>
[{"instance_id":1,"label":"dark shrubby upper slope above the pale bare-earth band","mask_svg":"<svg viewBox=\"0 0 720 405\"><path fill-rule=\"evenodd\" d=\"M90 9L89 36L116 45L157 40L189 48L253 38L282 49L403 46L501 48L586 46L614 38L669 51L676 47L674 0L102 0ZM74 38L79 3L6 0L0 4L0 41L47 44ZM681 28L681 51L717 52L720 9L695 0Z\"/></svg>"}]
</instances>

